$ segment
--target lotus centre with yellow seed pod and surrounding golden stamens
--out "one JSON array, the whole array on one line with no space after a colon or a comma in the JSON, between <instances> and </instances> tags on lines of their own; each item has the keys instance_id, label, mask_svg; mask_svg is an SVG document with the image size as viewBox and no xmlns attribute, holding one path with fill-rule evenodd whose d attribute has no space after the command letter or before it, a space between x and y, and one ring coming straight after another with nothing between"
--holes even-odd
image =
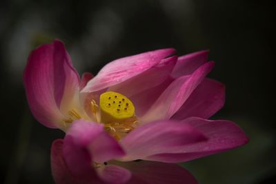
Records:
<instances>
[{"instance_id":1,"label":"lotus centre with yellow seed pod and surrounding golden stamens","mask_svg":"<svg viewBox=\"0 0 276 184\"><path fill-rule=\"evenodd\" d=\"M99 97L99 105L95 100L90 101L91 119L97 123L103 123L104 129L117 141L137 127L138 121L135 116L135 106L132 101L118 92L104 92ZM66 128L78 119L86 116L77 110L70 110L68 118L63 119Z\"/></svg>"}]
</instances>

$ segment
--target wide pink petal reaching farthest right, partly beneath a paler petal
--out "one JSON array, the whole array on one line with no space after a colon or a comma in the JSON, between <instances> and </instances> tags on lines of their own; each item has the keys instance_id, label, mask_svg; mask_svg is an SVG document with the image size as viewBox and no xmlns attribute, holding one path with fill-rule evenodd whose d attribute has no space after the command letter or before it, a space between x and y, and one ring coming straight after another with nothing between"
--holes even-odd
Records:
<instances>
[{"instance_id":1,"label":"wide pink petal reaching farthest right, partly beneath a paler petal","mask_svg":"<svg viewBox=\"0 0 276 184\"><path fill-rule=\"evenodd\" d=\"M208 141L186 145L175 154L157 154L146 158L150 161L184 162L199 157L217 154L239 147L248 142L248 137L235 123L226 120L206 120L197 117L185 119L182 123L191 125L202 132Z\"/></svg>"}]
</instances>

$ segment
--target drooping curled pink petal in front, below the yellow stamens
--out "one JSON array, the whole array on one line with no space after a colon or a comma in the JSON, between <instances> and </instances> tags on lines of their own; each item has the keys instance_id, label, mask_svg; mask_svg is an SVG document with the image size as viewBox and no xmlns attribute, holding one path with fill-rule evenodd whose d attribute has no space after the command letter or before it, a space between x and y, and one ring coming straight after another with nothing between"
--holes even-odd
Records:
<instances>
[{"instance_id":1,"label":"drooping curled pink petal in front, below the yellow stamens","mask_svg":"<svg viewBox=\"0 0 276 184\"><path fill-rule=\"evenodd\" d=\"M99 174L93 163L101 164L121 156L124 151L117 141L93 122L74 121L64 139L63 158L75 178L91 181Z\"/></svg>"}]
</instances>

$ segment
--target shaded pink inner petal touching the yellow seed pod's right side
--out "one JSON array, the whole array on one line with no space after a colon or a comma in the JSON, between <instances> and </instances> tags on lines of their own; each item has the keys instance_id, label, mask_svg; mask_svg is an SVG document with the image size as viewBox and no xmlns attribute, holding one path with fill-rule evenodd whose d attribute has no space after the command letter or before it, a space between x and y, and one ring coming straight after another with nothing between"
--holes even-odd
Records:
<instances>
[{"instance_id":1,"label":"shaded pink inner petal touching the yellow seed pod's right side","mask_svg":"<svg viewBox=\"0 0 276 184\"><path fill-rule=\"evenodd\" d=\"M135 105L135 114L140 119L148 110L150 107L157 101L159 96L168 88L170 83L174 81L172 77L168 76L163 83L155 86L154 88L150 88L148 90L145 90L143 92L140 92L139 94L135 94L133 96L130 96L130 100Z\"/></svg>"}]
</instances>

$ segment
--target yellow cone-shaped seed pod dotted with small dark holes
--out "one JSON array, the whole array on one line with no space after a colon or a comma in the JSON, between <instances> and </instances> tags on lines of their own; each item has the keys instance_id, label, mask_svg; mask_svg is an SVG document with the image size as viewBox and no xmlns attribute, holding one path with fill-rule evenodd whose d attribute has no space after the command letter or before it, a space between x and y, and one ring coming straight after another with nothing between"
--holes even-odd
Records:
<instances>
[{"instance_id":1,"label":"yellow cone-shaped seed pod dotted with small dark holes","mask_svg":"<svg viewBox=\"0 0 276 184\"><path fill-rule=\"evenodd\" d=\"M118 92L104 92L101 94L99 107L103 123L120 122L135 115L135 107L132 101Z\"/></svg>"}]
</instances>

